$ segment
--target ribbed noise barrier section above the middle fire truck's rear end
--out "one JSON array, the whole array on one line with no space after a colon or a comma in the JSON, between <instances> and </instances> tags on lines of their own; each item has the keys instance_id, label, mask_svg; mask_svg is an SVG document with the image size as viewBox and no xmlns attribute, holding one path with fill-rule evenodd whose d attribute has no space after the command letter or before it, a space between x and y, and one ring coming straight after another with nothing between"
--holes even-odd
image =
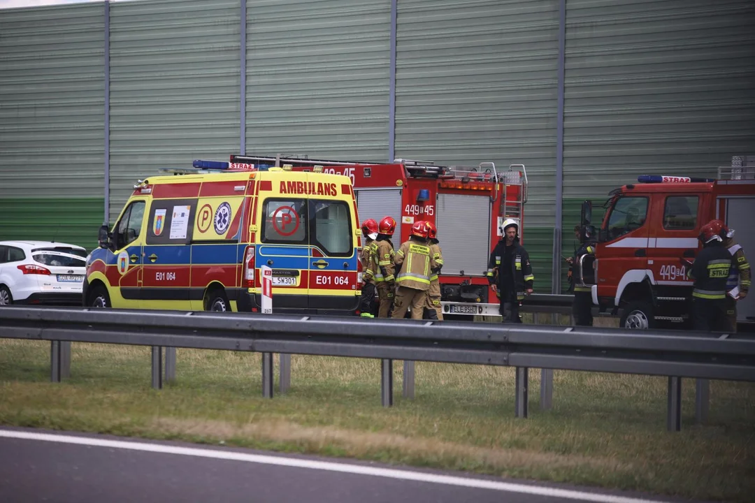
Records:
<instances>
[{"instance_id":1,"label":"ribbed noise barrier section above the middle fire truck's rear end","mask_svg":"<svg viewBox=\"0 0 755 503\"><path fill-rule=\"evenodd\" d=\"M552 225L558 5L401 0L396 157L525 164L530 222Z\"/></svg>"}]
</instances>

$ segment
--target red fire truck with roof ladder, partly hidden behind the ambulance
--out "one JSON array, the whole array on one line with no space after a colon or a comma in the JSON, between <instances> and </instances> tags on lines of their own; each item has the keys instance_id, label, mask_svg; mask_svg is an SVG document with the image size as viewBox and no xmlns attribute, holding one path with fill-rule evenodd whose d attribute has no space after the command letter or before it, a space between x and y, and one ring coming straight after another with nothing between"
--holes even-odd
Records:
<instances>
[{"instance_id":1,"label":"red fire truck with roof ladder, partly hidden behind the ambulance","mask_svg":"<svg viewBox=\"0 0 755 503\"><path fill-rule=\"evenodd\" d=\"M504 219L519 222L524 240L527 171L524 164L498 170L493 162L476 167L439 166L432 161L392 163L330 161L299 157L231 155L230 163L319 171L349 176L360 222L396 219L393 245L408 239L417 220L433 222L443 253L439 275L444 317L498 316L498 299L485 271L490 250L501 238Z\"/></svg>"}]
</instances>

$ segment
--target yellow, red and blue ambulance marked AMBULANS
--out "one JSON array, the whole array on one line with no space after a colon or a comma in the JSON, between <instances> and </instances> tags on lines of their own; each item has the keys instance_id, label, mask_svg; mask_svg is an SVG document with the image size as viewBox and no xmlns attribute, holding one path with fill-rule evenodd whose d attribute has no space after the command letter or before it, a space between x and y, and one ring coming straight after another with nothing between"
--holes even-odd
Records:
<instances>
[{"instance_id":1,"label":"yellow, red and blue ambulance marked AMBULANS","mask_svg":"<svg viewBox=\"0 0 755 503\"><path fill-rule=\"evenodd\" d=\"M161 171L100 228L85 306L258 312L267 265L274 312L353 314L361 231L347 176L218 161Z\"/></svg>"}]
</instances>

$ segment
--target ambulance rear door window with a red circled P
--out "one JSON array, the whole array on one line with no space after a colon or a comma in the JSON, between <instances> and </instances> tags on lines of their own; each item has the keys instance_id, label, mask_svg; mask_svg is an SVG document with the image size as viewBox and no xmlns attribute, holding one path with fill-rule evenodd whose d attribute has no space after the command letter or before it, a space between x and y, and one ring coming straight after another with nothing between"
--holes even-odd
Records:
<instances>
[{"instance_id":1,"label":"ambulance rear door window with a red circled P","mask_svg":"<svg viewBox=\"0 0 755 503\"><path fill-rule=\"evenodd\" d=\"M309 244L306 199L266 199L262 214L262 242Z\"/></svg>"}]
</instances>

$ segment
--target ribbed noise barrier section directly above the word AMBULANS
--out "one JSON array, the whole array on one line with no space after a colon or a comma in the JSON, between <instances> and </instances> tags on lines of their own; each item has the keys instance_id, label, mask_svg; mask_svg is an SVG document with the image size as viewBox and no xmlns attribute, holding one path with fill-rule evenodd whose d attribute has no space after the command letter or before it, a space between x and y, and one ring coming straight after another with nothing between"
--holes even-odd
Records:
<instances>
[{"instance_id":1,"label":"ribbed noise barrier section directly above the word AMBULANS","mask_svg":"<svg viewBox=\"0 0 755 503\"><path fill-rule=\"evenodd\" d=\"M247 152L386 161L390 0L262 0L247 17Z\"/></svg>"}]
</instances>

